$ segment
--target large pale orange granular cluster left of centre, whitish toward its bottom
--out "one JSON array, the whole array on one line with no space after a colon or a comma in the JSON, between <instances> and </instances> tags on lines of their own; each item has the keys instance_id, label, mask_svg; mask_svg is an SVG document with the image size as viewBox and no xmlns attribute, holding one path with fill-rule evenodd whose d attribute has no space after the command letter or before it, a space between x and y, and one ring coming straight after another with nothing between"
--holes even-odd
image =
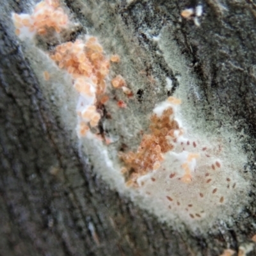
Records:
<instances>
[{"instance_id":1,"label":"large pale orange granular cluster left of centre, whitish toward its bottom","mask_svg":"<svg viewBox=\"0 0 256 256\"><path fill-rule=\"evenodd\" d=\"M104 104L108 101L106 91L106 76L109 73L109 60L102 53L103 48L95 37L89 38L85 43L82 40L67 42L56 47L51 54L52 60L65 70L74 79L74 88L86 97L95 97L94 104ZM86 111L79 113L90 127L99 124L100 115L94 105ZM79 132L83 136L86 132Z\"/></svg>"}]
</instances>

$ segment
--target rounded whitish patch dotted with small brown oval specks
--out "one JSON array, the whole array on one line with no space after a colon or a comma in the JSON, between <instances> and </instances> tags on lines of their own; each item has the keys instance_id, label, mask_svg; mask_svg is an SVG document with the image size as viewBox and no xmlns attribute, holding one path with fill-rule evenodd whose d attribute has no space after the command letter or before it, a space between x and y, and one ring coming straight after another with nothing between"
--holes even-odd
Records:
<instances>
[{"instance_id":1,"label":"rounded whitish patch dotted with small brown oval specks","mask_svg":"<svg viewBox=\"0 0 256 256\"><path fill-rule=\"evenodd\" d=\"M160 116L170 105L173 106L168 101L162 102L154 113ZM136 191L148 198L155 211L164 212L165 218L180 218L187 223L209 220L218 216L224 205L232 206L243 191L246 183L234 172L235 168L243 170L243 166L230 162L224 141L186 135L172 141L173 150L164 154L156 171L138 179Z\"/></svg>"}]
</instances>

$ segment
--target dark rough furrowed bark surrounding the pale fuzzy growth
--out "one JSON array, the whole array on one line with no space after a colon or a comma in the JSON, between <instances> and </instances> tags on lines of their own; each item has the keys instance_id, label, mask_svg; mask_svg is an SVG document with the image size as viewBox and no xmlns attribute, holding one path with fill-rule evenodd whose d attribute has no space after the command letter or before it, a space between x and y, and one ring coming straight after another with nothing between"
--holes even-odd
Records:
<instances>
[{"instance_id":1,"label":"dark rough furrowed bark surrounding the pale fuzzy growth","mask_svg":"<svg viewBox=\"0 0 256 256\"><path fill-rule=\"evenodd\" d=\"M154 216L111 191L95 176L93 166L79 158L70 145L65 127L51 113L38 80L23 55L10 26L10 11L26 10L26 1L0 6L0 255L220 255L225 248L238 251L256 233L255 191L234 227L219 223L214 232L195 236L159 223ZM182 3L180 3L182 2ZM244 129L248 152L255 148L256 128L256 7L253 1L203 1L202 24L180 21L184 8L196 1L84 1L99 5L101 12L118 16L120 30L127 29L145 52L145 71L161 81L177 74L156 54L147 38L162 26L182 54L191 60L191 70L202 81L207 118L214 111L231 116L237 131ZM90 14L84 20L80 1L65 1L74 17L93 27ZM102 20L102 26L104 27ZM97 24L99 33L104 33ZM81 31L83 31L83 26ZM79 31L79 32L81 32ZM109 31L108 31L109 32ZM113 28L114 33L114 28ZM114 35L114 34L113 34ZM76 35L75 35L76 36ZM111 36L111 35L110 35ZM124 42L124 44L126 44ZM129 48L129 45L125 45ZM139 52L140 52L139 51ZM136 49L133 58L136 59ZM145 80L147 77L145 78ZM138 90L137 100L148 100L150 82ZM164 92L162 98L173 92ZM191 93L193 97L193 93ZM196 100L195 100L196 104ZM154 105L154 103L152 103ZM221 125L221 124L220 124ZM254 157L250 156L251 171ZM248 255L255 255L256 251Z\"/></svg>"}]
</instances>

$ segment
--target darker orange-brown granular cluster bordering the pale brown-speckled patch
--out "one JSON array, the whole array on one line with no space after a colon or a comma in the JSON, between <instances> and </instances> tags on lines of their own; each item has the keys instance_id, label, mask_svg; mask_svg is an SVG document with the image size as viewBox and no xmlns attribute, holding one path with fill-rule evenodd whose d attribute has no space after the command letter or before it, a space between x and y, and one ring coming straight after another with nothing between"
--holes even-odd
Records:
<instances>
[{"instance_id":1,"label":"darker orange-brown granular cluster bordering the pale brown-speckled patch","mask_svg":"<svg viewBox=\"0 0 256 256\"><path fill-rule=\"evenodd\" d=\"M124 161L130 173L128 181L132 181L134 186L136 186L138 177L159 168L163 161L163 154L173 149L173 145L168 141L168 136L173 139L175 137L169 131L179 129L179 125L170 118L172 114L173 109L168 108L161 116L152 115L150 118L151 133L143 135L138 150L136 152L120 152L120 159Z\"/></svg>"}]
</instances>

